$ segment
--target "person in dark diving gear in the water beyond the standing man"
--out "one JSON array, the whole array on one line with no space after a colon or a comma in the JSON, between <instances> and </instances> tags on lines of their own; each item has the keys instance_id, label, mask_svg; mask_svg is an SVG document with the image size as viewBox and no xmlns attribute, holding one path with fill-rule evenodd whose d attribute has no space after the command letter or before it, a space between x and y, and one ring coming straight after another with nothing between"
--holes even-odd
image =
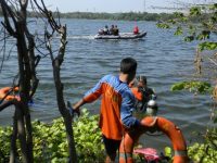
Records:
<instances>
[{"instance_id":1,"label":"person in dark diving gear in the water beyond the standing man","mask_svg":"<svg viewBox=\"0 0 217 163\"><path fill-rule=\"evenodd\" d=\"M152 88L148 87L146 77L139 76L137 78L137 86L131 88L132 93L136 97L136 109L137 111L145 111L148 102L150 100L156 100L156 93Z\"/></svg>"}]
</instances>

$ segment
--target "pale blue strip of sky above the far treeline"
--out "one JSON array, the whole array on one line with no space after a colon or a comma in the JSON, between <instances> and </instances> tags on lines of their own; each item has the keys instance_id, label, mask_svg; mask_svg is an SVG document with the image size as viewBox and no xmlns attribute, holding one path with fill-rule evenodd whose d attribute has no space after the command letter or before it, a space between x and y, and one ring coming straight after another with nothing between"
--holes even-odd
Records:
<instances>
[{"instance_id":1,"label":"pale blue strip of sky above the far treeline","mask_svg":"<svg viewBox=\"0 0 217 163\"><path fill-rule=\"evenodd\" d=\"M49 10L62 12L169 12L180 4L216 0L43 0ZM178 4L179 3L179 4ZM166 8L166 9L162 9Z\"/></svg>"}]
</instances>

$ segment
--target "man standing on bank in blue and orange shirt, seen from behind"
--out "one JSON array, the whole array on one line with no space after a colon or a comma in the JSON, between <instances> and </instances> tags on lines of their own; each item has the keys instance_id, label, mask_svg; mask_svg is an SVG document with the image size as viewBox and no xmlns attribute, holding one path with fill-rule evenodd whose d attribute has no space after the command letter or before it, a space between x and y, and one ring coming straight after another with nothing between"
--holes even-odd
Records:
<instances>
[{"instance_id":1,"label":"man standing on bank in blue and orange shirt, seen from behind","mask_svg":"<svg viewBox=\"0 0 217 163\"><path fill-rule=\"evenodd\" d=\"M125 131L142 127L140 121L132 116L136 99L129 84L135 79L136 71L137 61L135 59L123 59L119 75L102 77L73 108L79 113L81 105L93 102L101 97L99 125L107 154L106 163L115 162L116 152Z\"/></svg>"}]
</instances>

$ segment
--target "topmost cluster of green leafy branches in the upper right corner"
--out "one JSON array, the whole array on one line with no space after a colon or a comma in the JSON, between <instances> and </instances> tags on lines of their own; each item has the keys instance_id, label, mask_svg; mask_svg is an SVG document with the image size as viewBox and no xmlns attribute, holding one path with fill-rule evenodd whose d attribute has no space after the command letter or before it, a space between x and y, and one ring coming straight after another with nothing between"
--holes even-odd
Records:
<instances>
[{"instance_id":1,"label":"topmost cluster of green leafy branches in the upper right corner","mask_svg":"<svg viewBox=\"0 0 217 163\"><path fill-rule=\"evenodd\" d=\"M161 28L176 27L175 35L183 35L184 41L199 40L199 50L216 50L216 41L207 41L217 34L217 3L196 5L188 14L175 12L175 18L157 23Z\"/></svg>"}]
</instances>

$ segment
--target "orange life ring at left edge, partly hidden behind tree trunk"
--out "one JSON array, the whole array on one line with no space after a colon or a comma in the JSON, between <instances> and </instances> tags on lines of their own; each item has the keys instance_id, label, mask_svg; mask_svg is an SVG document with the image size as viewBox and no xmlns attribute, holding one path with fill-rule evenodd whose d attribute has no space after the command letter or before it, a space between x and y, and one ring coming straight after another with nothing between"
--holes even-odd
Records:
<instances>
[{"instance_id":1,"label":"orange life ring at left edge, partly hidden behind tree trunk","mask_svg":"<svg viewBox=\"0 0 217 163\"><path fill-rule=\"evenodd\" d=\"M9 91L11 91L11 89L13 89L13 91L18 91L18 87L12 88L12 87L4 87L0 89L0 99L3 99ZM4 100L13 100L16 99L17 101L21 100L21 98L18 96L13 96L13 95L8 95Z\"/></svg>"}]
</instances>

